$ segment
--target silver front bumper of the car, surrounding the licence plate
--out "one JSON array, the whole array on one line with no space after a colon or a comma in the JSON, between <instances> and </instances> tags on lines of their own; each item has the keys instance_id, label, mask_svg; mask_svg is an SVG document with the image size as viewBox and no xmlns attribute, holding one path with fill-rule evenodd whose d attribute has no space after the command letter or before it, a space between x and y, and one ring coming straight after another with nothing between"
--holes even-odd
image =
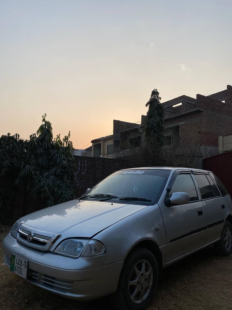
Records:
<instances>
[{"instance_id":1,"label":"silver front bumper of the car, surrounding the licence plate","mask_svg":"<svg viewBox=\"0 0 232 310\"><path fill-rule=\"evenodd\" d=\"M114 293L117 290L123 266L123 261L84 270L49 266L44 263L45 255L53 253L43 253L43 259L40 259L41 256L38 255L38 261L35 261L31 259L35 256L32 255L35 250L21 245L11 235L7 235L3 240L2 249L7 267L10 268L12 254L27 259L27 281L70 299L91 300ZM55 258L58 258L57 255L54 255ZM41 263L40 260L43 262ZM68 266L67 260L67 268Z\"/></svg>"}]
</instances>

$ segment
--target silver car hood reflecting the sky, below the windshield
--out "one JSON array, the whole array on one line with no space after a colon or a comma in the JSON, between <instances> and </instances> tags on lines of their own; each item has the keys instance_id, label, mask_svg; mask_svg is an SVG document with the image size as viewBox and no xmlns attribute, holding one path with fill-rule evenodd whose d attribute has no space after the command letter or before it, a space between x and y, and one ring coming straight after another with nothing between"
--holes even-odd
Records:
<instances>
[{"instance_id":1,"label":"silver car hood reflecting the sky, below the windshield","mask_svg":"<svg viewBox=\"0 0 232 310\"><path fill-rule=\"evenodd\" d=\"M146 208L107 201L71 200L24 216L20 221L36 231L62 237L92 237L121 219Z\"/></svg>"}]
</instances>

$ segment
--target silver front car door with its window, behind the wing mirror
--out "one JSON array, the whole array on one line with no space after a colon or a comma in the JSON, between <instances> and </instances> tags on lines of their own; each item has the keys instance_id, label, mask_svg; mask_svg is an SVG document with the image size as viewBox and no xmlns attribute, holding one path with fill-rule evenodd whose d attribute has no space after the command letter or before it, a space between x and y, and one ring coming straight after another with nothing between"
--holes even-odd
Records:
<instances>
[{"instance_id":1,"label":"silver front car door with its window, behind the wing mirror","mask_svg":"<svg viewBox=\"0 0 232 310\"><path fill-rule=\"evenodd\" d=\"M165 263L205 245L207 219L191 172L177 175L169 196L175 192L187 193L190 201L184 205L161 206L166 231Z\"/></svg>"}]
</instances>

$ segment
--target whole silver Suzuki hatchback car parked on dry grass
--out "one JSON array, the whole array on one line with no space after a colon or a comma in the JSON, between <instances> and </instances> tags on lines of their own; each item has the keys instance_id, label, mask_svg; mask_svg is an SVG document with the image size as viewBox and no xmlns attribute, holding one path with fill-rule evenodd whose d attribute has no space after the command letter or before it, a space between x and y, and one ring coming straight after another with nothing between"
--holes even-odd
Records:
<instances>
[{"instance_id":1,"label":"whole silver Suzuki hatchback car parked on dry grass","mask_svg":"<svg viewBox=\"0 0 232 310\"><path fill-rule=\"evenodd\" d=\"M31 283L79 300L112 294L145 309L162 269L214 244L232 251L232 203L210 171L120 170L79 199L20 218L3 241L5 263Z\"/></svg>"}]
</instances>

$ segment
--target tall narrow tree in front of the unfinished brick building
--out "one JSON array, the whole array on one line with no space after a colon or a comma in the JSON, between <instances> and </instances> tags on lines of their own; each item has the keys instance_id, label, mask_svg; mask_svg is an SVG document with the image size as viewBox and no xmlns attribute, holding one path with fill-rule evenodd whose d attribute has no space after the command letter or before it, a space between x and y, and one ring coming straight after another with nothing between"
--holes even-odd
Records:
<instances>
[{"instance_id":1,"label":"tall narrow tree in front of the unfinished brick building","mask_svg":"<svg viewBox=\"0 0 232 310\"><path fill-rule=\"evenodd\" d=\"M145 141L147 143L157 144L162 146L163 144L163 105L160 103L161 97L157 89L153 89L151 98L146 103L148 107L147 117L144 125Z\"/></svg>"}]
</instances>

